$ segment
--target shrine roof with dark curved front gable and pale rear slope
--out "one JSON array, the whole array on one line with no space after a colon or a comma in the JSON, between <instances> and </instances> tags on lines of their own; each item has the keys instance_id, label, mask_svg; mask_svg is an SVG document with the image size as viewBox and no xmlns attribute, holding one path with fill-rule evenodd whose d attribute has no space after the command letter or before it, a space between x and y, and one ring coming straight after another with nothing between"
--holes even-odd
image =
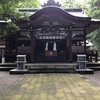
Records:
<instances>
[{"instance_id":1,"label":"shrine roof with dark curved front gable and pale rear slope","mask_svg":"<svg viewBox=\"0 0 100 100\"><path fill-rule=\"evenodd\" d=\"M54 17L55 20L62 23L62 25L84 28L86 27L86 34L98 29L100 27L99 19L92 19L88 17L83 9L80 8L66 8L62 9L57 6L46 6L41 9L33 8L18 8L23 12L31 13L29 17L31 25L36 26L41 24L48 18Z\"/></svg>"}]
</instances>

